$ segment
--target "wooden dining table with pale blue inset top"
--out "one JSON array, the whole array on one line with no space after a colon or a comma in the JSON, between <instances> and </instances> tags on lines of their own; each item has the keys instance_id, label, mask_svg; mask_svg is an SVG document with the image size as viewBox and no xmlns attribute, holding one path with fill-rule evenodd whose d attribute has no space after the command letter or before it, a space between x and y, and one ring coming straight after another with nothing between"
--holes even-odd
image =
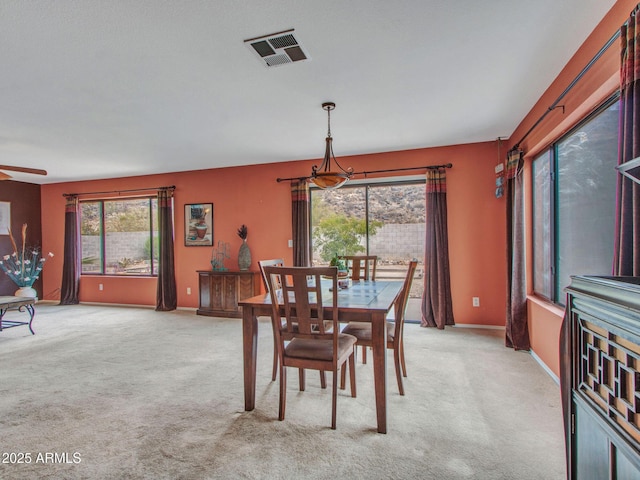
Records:
<instances>
[{"instance_id":1,"label":"wooden dining table with pale blue inset top","mask_svg":"<svg viewBox=\"0 0 640 480\"><path fill-rule=\"evenodd\" d=\"M401 281L354 280L338 292L340 323L371 323L378 433L387 433L387 314L401 288ZM323 295L323 299L330 305L332 295ZM268 293L256 295L239 301L238 305L242 307L244 409L251 411L256 405L258 317L271 316L271 297ZM284 306L281 312L284 315Z\"/></svg>"}]
</instances>

